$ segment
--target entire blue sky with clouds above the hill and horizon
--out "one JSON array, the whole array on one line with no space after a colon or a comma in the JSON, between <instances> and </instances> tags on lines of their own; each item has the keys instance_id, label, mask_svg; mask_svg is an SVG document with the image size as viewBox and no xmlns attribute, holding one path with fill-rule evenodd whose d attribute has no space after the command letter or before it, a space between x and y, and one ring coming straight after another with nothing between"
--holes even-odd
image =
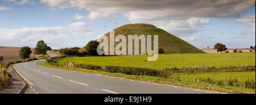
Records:
<instances>
[{"instance_id":1,"label":"entire blue sky with clouds above the hill and horizon","mask_svg":"<svg viewBox=\"0 0 256 105\"><path fill-rule=\"evenodd\" d=\"M83 47L131 23L155 25L199 49L248 48L255 0L0 0L0 46Z\"/></svg>"}]
</instances>

